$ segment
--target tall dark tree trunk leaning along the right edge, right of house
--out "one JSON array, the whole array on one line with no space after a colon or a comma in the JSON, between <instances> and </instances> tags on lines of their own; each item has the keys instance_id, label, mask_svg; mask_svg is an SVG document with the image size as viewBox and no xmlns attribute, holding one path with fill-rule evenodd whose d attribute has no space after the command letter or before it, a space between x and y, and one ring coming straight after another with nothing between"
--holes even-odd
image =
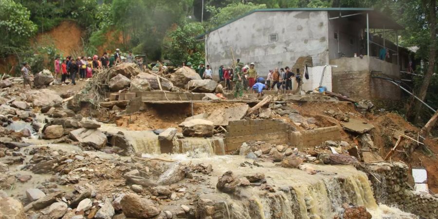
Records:
<instances>
[{"instance_id":1,"label":"tall dark tree trunk leaning along the right edge, right of house","mask_svg":"<svg viewBox=\"0 0 438 219\"><path fill-rule=\"evenodd\" d=\"M436 0L421 0L421 8L422 8L422 14L424 16L418 17L419 19L424 19L422 22L419 22L419 24L426 24L424 26L420 26L420 32L421 33L427 33L429 32L430 39L424 40L423 37L419 37L420 39L423 39L420 43L422 44L423 48L429 49L429 55L427 59L429 60L427 71L424 74L424 79L421 83L420 91L417 93L418 98L420 98L422 101L424 101L427 90L429 88L431 79L434 74L435 70L435 59L437 54L437 1ZM427 20L427 22L425 22ZM426 29L428 27L428 29ZM420 46L421 47L421 46ZM422 109L422 104L420 101L417 101L416 99L412 100L410 108L406 112L406 117L414 120L415 123L420 122L420 110Z\"/></svg>"}]
</instances>

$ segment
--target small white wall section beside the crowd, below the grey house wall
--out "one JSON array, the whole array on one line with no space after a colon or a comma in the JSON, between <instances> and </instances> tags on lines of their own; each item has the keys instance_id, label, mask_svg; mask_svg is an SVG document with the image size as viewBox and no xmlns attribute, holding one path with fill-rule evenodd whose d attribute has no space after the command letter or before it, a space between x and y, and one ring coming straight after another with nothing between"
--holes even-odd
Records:
<instances>
[{"instance_id":1,"label":"small white wall section beside the crowd, below the grey house wall","mask_svg":"<svg viewBox=\"0 0 438 219\"><path fill-rule=\"evenodd\" d=\"M312 68L308 68L309 71L309 80L304 78L303 85L301 86L301 90L303 91L313 91L315 88L319 87L319 83L321 82L321 76L323 73L324 66L313 66ZM304 75L303 75L304 77ZM322 86L327 88L327 91L331 91L331 66L327 66L324 71L324 77Z\"/></svg>"}]
</instances>

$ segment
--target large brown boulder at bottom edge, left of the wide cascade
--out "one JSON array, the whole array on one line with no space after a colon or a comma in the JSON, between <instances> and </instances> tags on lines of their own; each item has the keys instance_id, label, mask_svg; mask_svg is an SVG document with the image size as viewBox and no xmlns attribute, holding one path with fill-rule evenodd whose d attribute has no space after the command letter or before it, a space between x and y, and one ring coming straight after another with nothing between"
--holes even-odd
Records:
<instances>
[{"instance_id":1,"label":"large brown boulder at bottom edge, left of the wide cascade","mask_svg":"<svg viewBox=\"0 0 438 219\"><path fill-rule=\"evenodd\" d=\"M126 194L120 204L127 218L152 218L161 212L152 201L133 193Z\"/></svg>"}]
</instances>

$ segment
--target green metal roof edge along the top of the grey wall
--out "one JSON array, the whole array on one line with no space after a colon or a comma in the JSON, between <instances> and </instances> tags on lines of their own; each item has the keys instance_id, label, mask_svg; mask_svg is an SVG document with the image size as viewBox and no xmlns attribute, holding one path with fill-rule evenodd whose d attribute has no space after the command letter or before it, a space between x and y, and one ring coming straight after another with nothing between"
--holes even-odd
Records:
<instances>
[{"instance_id":1,"label":"green metal roof edge along the top of the grey wall","mask_svg":"<svg viewBox=\"0 0 438 219\"><path fill-rule=\"evenodd\" d=\"M233 23L234 21L236 21L240 18L246 17L246 16L251 15L255 12L263 12L263 11L374 11L374 8L263 8L263 9L255 9L255 10L252 10L252 11L250 11L244 15L241 15L237 18L231 19L224 24L221 24L221 25L219 25L219 26L217 26L217 27L215 27L215 28L203 33L203 34L196 36L195 38L203 37L203 36L213 32L215 30L218 30L221 27L224 27L230 23Z\"/></svg>"}]
</instances>

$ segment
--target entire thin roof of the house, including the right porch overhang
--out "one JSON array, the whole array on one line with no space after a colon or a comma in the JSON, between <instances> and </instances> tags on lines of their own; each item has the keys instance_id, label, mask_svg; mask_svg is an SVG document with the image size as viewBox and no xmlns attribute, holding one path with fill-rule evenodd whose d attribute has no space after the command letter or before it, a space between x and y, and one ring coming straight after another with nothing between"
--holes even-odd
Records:
<instances>
[{"instance_id":1,"label":"entire thin roof of the house, including the right porch overhang","mask_svg":"<svg viewBox=\"0 0 438 219\"><path fill-rule=\"evenodd\" d=\"M206 34L209 34L209 33L213 32L215 30L218 30L221 27L224 27L224 26L226 26L226 25L228 25L228 24L230 24L230 23L232 23L232 22L234 22L234 21L236 21L236 20L238 20L240 18L246 17L246 16L251 15L251 14L253 14L255 12L283 12L283 11L340 11L340 12L341 11L354 11L354 12L357 12L357 11L370 11L370 12L373 12L376 15L376 17L378 17L380 22L386 22L389 19L386 16L384 16L383 14L381 14L380 12L374 11L374 8L265 8L265 9L256 9L256 10L250 11L250 12L248 12L248 13L242 15L242 16L239 16L237 18L234 18L234 19L232 19L232 20L222 24L222 25L219 25L218 27L215 27L215 28L207 31L207 32L197 36L196 38L203 37ZM392 23L395 23L395 26L398 25L392 19L389 19L389 21L391 21ZM398 25L398 27L395 28L395 29L403 29L403 28L402 28L402 26Z\"/></svg>"}]
</instances>

